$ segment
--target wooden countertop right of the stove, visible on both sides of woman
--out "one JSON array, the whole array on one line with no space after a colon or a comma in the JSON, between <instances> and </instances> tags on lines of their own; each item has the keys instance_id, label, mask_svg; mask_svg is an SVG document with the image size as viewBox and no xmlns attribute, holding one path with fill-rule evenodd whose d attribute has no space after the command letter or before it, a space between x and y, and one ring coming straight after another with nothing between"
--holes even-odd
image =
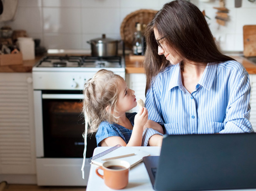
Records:
<instances>
[{"instance_id":1,"label":"wooden countertop right of the stove, visible on both sides of woman","mask_svg":"<svg viewBox=\"0 0 256 191\"><path fill-rule=\"evenodd\" d=\"M249 74L256 74L256 64L252 63L248 59L242 56L231 56L232 58L239 61L241 64L244 65L245 69L248 71ZM126 73L144 73L144 69L142 67L142 58L138 56L138 59L132 57L130 59L129 55L125 56L125 72Z\"/></svg>"}]
</instances>

